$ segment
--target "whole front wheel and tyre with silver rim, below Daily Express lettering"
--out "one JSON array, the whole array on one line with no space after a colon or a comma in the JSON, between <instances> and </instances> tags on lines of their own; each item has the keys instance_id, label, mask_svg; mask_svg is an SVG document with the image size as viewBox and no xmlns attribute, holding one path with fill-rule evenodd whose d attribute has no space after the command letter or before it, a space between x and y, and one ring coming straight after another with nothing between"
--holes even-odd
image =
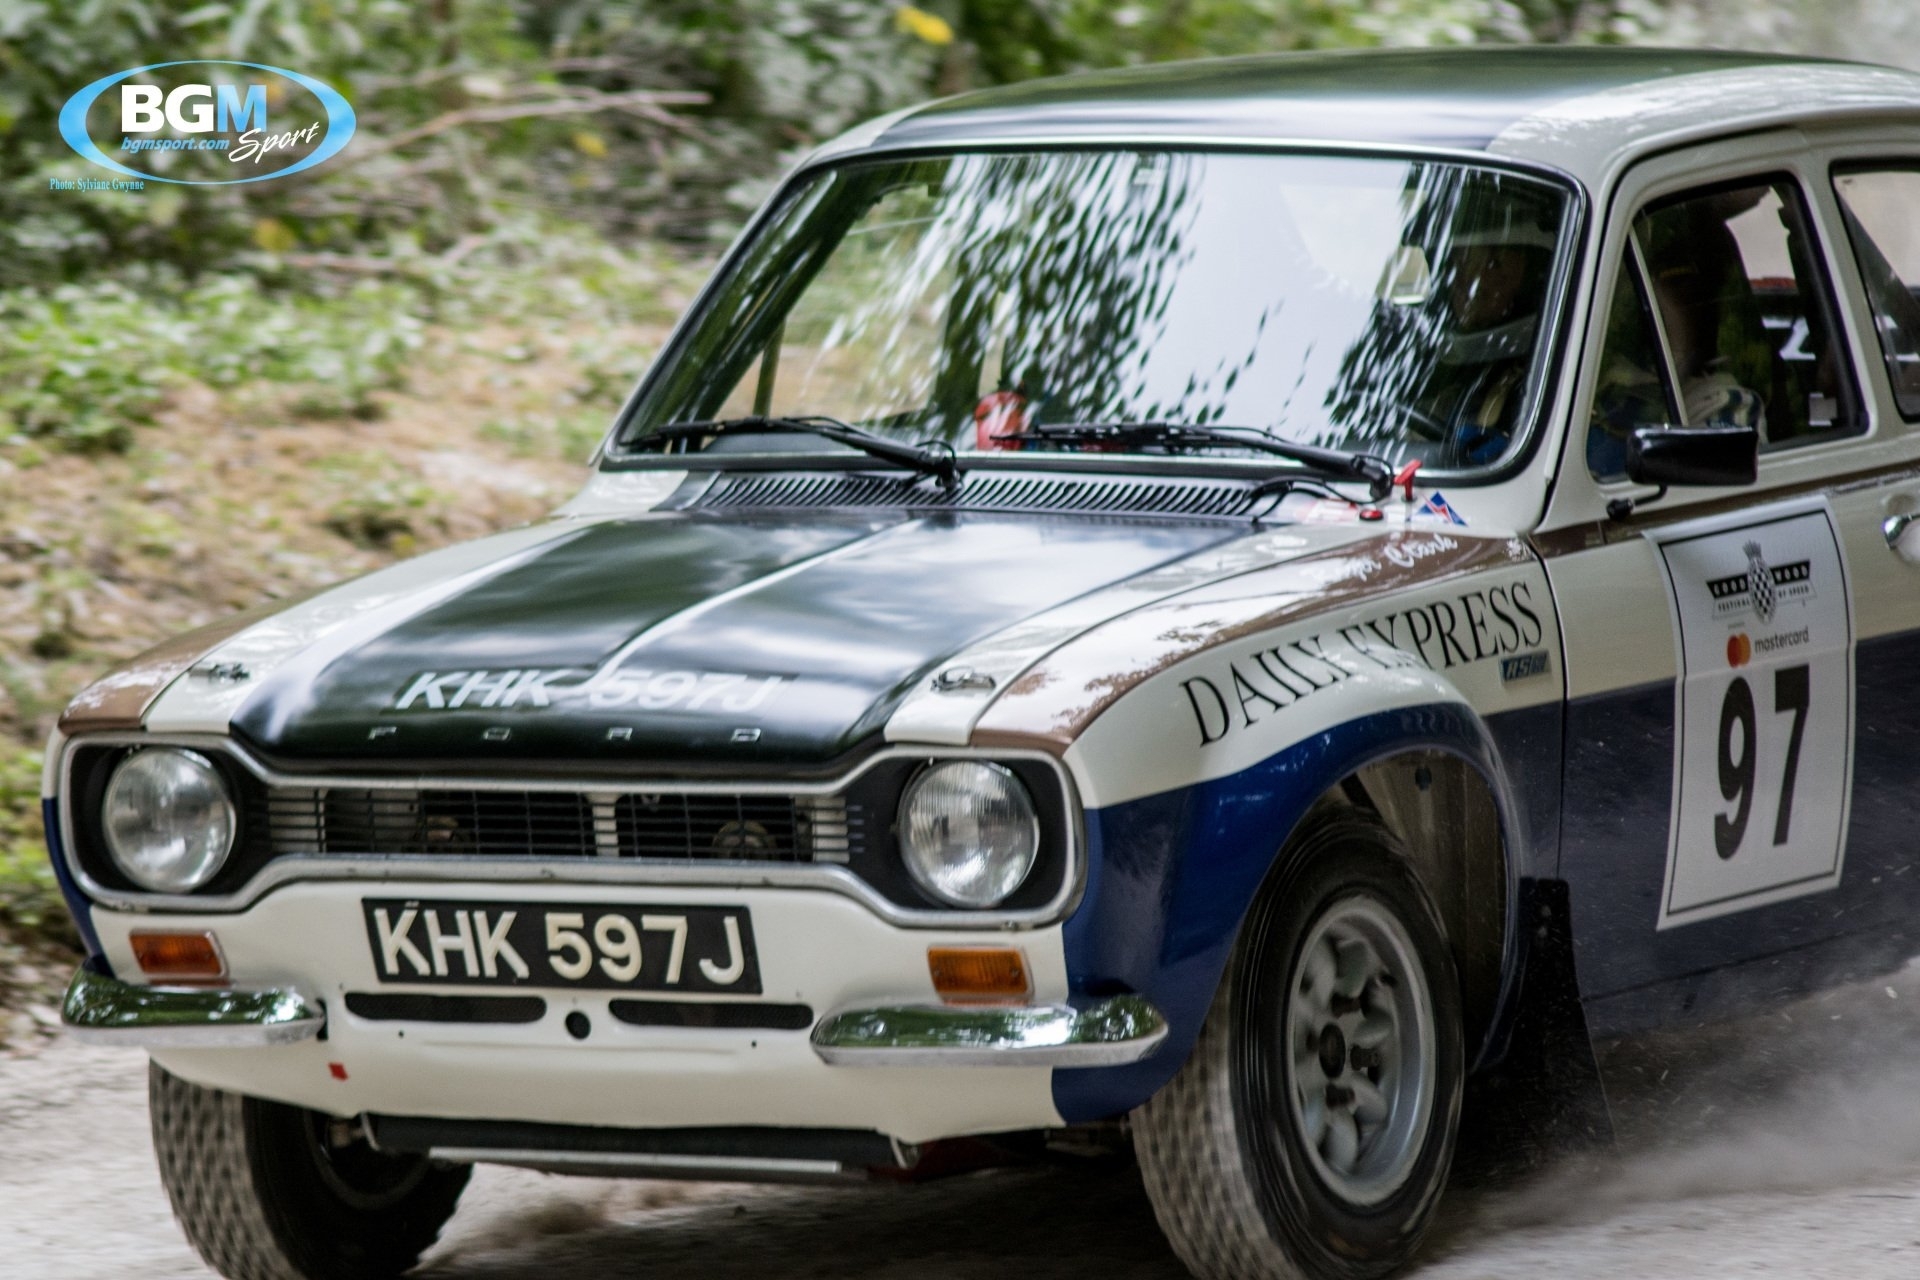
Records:
<instances>
[{"instance_id":1,"label":"whole front wheel and tyre with silver rim, below Daily Express lettering","mask_svg":"<svg viewBox=\"0 0 1920 1280\"><path fill-rule=\"evenodd\" d=\"M1200 1280L1377 1280L1413 1255L1459 1128L1461 1004L1427 892L1373 818L1309 819L1181 1073L1133 1113Z\"/></svg>"}]
</instances>

